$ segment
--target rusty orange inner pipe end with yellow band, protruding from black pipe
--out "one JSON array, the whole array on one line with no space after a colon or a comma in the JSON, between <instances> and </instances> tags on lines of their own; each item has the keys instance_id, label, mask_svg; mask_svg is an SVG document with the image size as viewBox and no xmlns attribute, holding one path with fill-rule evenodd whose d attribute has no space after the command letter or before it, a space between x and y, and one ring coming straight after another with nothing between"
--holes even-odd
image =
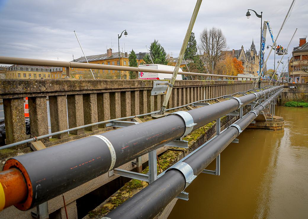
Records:
<instances>
[{"instance_id":1,"label":"rusty orange inner pipe end with yellow band, protruding from black pipe","mask_svg":"<svg viewBox=\"0 0 308 219\"><path fill-rule=\"evenodd\" d=\"M0 210L26 200L28 187L16 168L0 172Z\"/></svg>"}]
</instances>

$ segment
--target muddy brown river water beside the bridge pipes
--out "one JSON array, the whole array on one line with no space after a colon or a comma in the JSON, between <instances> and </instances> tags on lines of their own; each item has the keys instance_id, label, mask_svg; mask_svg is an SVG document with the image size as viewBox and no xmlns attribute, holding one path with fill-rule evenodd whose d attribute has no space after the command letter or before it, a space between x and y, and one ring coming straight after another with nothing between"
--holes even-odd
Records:
<instances>
[{"instance_id":1,"label":"muddy brown river water beside the bridge pipes","mask_svg":"<svg viewBox=\"0 0 308 219\"><path fill-rule=\"evenodd\" d=\"M276 115L284 129L245 129L221 153L220 176L201 173L168 219L308 218L308 109L278 106Z\"/></svg>"}]
</instances>

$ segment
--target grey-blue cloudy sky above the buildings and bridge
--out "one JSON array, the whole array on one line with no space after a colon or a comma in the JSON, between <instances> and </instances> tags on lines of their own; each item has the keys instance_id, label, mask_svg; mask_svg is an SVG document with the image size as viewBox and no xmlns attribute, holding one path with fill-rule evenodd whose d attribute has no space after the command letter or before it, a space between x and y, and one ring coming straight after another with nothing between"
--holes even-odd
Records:
<instances>
[{"instance_id":1,"label":"grey-blue cloudy sky above the buildings and bridge","mask_svg":"<svg viewBox=\"0 0 308 219\"><path fill-rule=\"evenodd\" d=\"M248 49L254 39L258 51L261 19L253 12L247 19L247 9L263 11L263 20L270 21L276 37L291 2L205 0L193 32L199 42L199 34L205 27L216 26L225 34L230 50L242 45ZM83 56L74 30L86 55L104 54L110 47L118 51L117 34L126 29L128 36L120 39L120 50L145 52L145 46L156 39L167 53L176 57L195 3L195 0L0 0L0 56L71 61L72 55ZM307 8L307 0L295 1L277 40L279 45L286 48L295 28L298 31L290 50L298 46L299 38L308 35ZM266 44L272 44L268 33ZM285 63L289 54L283 60ZM278 56L276 62L277 59ZM273 68L273 64L274 53L268 68Z\"/></svg>"}]
</instances>

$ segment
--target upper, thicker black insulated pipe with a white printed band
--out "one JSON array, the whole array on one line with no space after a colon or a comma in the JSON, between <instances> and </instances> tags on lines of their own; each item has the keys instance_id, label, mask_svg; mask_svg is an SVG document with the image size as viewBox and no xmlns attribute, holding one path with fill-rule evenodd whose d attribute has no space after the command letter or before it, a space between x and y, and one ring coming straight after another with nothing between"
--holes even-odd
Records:
<instances>
[{"instance_id":1,"label":"upper, thicker black insulated pipe with a white printed band","mask_svg":"<svg viewBox=\"0 0 308 219\"><path fill-rule=\"evenodd\" d=\"M238 99L245 106L265 94L277 90L271 87ZM194 129L239 108L237 99L229 99L187 111ZM107 173L133 159L178 139L185 131L184 120L170 115L137 125L85 137L10 158L26 170L32 191L30 209L95 177ZM8 161L9 161L8 160ZM14 161L15 162L15 161ZM11 166L10 168L18 168ZM25 210L25 209L22 209Z\"/></svg>"}]
</instances>

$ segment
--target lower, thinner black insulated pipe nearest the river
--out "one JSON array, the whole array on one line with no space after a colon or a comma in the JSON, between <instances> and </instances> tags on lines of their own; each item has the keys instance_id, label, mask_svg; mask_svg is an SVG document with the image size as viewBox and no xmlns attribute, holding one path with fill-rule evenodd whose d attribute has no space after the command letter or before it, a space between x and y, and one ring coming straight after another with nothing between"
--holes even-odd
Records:
<instances>
[{"instance_id":1,"label":"lower, thinner black insulated pipe nearest the river","mask_svg":"<svg viewBox=\"0 0 308 219\"><path fill-rule=\"evenodd\" d=\"M279 87L281 88L282 86ZM241 130L244 130L270 102L277 98L281 91L282 89L258 105L253 110L256 114L250 111L235 124L239 125ZM238 135L239 130L234 126L229 126L205 147L202 147L182 162L191 166L194 175L199 175ZM185 183L183 174L177 169L171 169L103 218L154 218L183 191Z\"/></svg>"}]
</instances>

